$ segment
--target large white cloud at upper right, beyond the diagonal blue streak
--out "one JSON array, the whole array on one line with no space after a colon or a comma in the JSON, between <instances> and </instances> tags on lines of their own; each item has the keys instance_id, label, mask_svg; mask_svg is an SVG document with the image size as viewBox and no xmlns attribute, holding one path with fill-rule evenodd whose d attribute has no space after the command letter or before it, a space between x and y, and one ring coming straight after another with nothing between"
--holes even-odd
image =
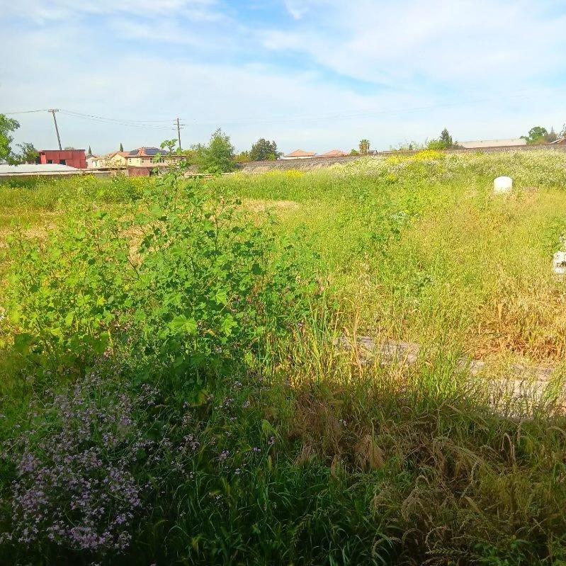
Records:
<instances>
[{"instance_id":1,"label":"large white cloud at upper right, beyond the diagonal blue streak","mask_svg":"<svg viewBox=\"0 0 566 566\"><path fill-rule=\"evenodd\" d=\"M302 1L309 18L264 32L264 46L294 50L346 77L518 84L565 69L566 14L526 0ZM316 8L316 10L315 10Z\"/></svg>"}]
</instances>

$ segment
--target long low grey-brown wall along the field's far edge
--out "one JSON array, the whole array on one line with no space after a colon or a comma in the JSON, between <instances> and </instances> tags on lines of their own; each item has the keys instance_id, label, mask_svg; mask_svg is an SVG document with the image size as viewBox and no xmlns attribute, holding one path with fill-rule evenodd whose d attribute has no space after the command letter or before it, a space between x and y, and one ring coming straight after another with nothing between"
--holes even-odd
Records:
<instances>
[{"instance_id":1,"label":"long low grey-brown wall along the field's far edge","mask_svg":"<svg viewBox=\"0 0 566 566\"><path fill-rule=\"evenodd\" d=\"M540 152L540 151L560 151L566 152L566 144L540 144L540 145L519 145L503 147L482 147L470 149L450 149L449 154L460 153L501 153L501 152ZM414 155L418 151L412 152L377 152L368 155L372 157L387 157L391 155ZM258 161L239 164L238 169L243 173L265 173L266 171L289 171L290 169L300 169L301 171L315 171L324 169L336 163L347 163L360 159L358 155L348 155L346 157L312 157L312 159L278 159L277 161Z\"/></svg>"}]
</instances>

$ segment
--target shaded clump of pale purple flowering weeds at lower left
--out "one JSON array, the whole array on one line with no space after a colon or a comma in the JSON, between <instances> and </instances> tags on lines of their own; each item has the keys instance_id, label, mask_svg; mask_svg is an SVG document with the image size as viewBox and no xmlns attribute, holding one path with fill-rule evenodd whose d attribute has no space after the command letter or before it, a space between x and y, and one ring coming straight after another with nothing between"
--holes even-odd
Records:
<instances>
[{"instance_id":1,"label":"shaded clump of pale purple flowering weeds at lower left","mask_svg":"<svg viewBox=\"0 0 566 566\"><path fill-rule=\"evenodd\" d=\"M103 402L96 399L101 385L90 380L69 396L55 397L4 453L17 474L13 530L4 538L32 548L52 542L93 553L128 548L147 491L138 468L162 451L134 418L136 409L152 403L154 392Z\"/></svg>"}]
</instances>

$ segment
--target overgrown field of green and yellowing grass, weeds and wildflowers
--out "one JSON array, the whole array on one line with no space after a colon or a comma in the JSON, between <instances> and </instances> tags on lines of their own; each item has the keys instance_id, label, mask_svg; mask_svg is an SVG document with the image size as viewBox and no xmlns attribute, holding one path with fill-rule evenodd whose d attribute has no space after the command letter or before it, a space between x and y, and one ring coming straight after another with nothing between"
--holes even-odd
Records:
<instances>
[{"instance_id":1,"label":"overgrown field of green and yellowing grass, weeds and wildflowers","mask_svg":"<svg viewBox=\"0 0 566 566\"><path fill-rule=\"evenodd\" d=\"M566 564L565 153L0 185L0 234L1 563Z\"/></svg>"}]
</instances>

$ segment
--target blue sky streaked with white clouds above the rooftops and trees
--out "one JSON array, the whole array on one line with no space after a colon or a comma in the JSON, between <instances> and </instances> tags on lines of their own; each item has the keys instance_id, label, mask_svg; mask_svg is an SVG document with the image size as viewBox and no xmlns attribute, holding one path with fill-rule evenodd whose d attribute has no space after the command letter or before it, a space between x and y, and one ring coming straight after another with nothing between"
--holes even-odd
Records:
<instances>
[{"instance_id":1,"label":"blue sky streaked with white clouds above the rooftops and trees","mask_svg":"<svg viewBox=\"0 0 566 566\"><path fill-rule=\"evenodd\" d=\"M0 112L60 108L63 145L94 152L158 145L176 116L185 147L220 127L316 152L566 122L562 0L0 3ZM49 114L14 118L56 146Z\"/></svg>"}]
</instances>

